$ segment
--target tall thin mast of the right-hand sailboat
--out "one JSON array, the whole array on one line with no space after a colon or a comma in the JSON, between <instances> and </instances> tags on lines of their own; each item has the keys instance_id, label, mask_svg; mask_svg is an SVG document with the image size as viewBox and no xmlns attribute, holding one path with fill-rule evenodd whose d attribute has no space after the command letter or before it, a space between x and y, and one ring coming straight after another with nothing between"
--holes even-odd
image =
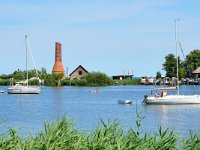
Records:
<instances>
[{"instance_id":1,"label":"tall thin mast of the right-hand sailboat","mask_svg":"<svg viewBox=\"0 0 200 150\"><path fill-rule=\"evenodd\" d=\"M179 76L178 76L178 37L177 37L177 21L179 19L175 19L175 41L176 41L176 77L177 77L177 95L179 95Z\"/></svg>"}]
</instances>

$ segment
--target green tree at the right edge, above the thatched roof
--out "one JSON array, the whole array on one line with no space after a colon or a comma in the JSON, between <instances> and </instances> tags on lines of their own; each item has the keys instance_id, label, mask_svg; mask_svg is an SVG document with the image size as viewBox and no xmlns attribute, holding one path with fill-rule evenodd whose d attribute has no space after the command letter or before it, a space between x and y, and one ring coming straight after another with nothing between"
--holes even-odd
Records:
<instances>
[{"instance_id":1,"label":"green tree at the right edge, above the thatched roof","mask_svg":"<svg viewBox=\"0 0 200 150\"><path fill-rule=\"evenodd\" d=\"M191 72L200 67L200 50L191 51L186 56L186 64L189 66Z\"/></svg>"}]
</instances>

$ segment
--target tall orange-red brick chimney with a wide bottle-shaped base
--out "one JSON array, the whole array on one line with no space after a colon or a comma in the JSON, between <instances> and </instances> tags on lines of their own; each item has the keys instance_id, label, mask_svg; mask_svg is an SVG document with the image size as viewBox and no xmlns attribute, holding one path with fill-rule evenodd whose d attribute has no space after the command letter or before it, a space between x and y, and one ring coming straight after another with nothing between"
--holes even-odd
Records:
<instances>
[{"instance_id":1,"label":"tall orange-red brick chimney with a wide bottle-shaped base","mask_svg":"<svg viewBox=\"0 0 200 150\"><path fill-rule=\"evenodd\" d=\"M63 75L65 76L65 70L64 70L64 67L62 64L61 44L56 42L56 44L55 44L55 63L53 66L52 74L59 74L59 73L63 73Z\"/></svg>"}]
</instances>

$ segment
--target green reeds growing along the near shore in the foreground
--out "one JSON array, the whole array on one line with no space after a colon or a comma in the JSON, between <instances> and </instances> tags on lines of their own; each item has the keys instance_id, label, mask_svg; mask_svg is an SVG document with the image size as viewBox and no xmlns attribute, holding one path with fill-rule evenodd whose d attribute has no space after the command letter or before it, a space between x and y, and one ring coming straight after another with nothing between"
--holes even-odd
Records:
<instances>
[{"instance_id":1,"label":"green reeds growing along the near shore in the foreground","mask_svg":"<svg viewBox=\"0 0 200 150\"><path fill-rule=\"evenodd\" d=\"M138 115L139 116L139 115ZM22 138L13 129L0 135L0 149L20 150L170 150L200 149L200 134L191 133L187 139L176 137L173 130L161 127L154 135L141 134L142 117L136 119L137 129L124 129L116 122L102 122L89 133L78 131L72 121L64 117L59 122L46 123L36 136Z\"/></svg>"}]
</instances>

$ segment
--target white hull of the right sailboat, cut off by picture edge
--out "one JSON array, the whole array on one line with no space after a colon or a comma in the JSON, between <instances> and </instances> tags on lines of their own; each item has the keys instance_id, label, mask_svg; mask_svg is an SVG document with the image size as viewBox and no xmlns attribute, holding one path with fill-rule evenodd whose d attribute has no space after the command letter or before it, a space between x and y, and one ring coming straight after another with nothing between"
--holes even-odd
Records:
<instances>
[{"instance_id":1,"label":"white hull of the right sailboat, cut off by picture edge","mask_svg":"<svg viewBox=\"0 0 200 150\"><path fill-rule=\"evenodd\" d=\"M200 104L200 95L172 95L159 98L147 97L143 102L149 105Z\"/></svg>"}]
</instances>

